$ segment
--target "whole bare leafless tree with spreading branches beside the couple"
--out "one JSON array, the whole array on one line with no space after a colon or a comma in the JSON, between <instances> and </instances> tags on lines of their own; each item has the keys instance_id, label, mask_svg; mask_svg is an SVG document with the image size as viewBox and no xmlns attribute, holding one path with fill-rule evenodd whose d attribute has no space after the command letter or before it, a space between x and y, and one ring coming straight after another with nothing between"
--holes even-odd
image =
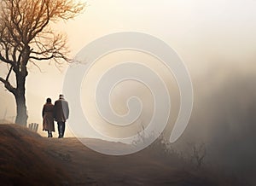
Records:
<instances>
[{"instance_id":1,"label":"whole bare leafless tree with spreading branches beside the couple","mask_svg":"<svg viewBox=\"0 0 256 186\"><path fill-rule=\"evenodd\" d=\"M0 62L7 66L0 82L15 96L15 123L26 125L27 64L36 61L69 61L67 39L56 34L49 24L73 19L84 9L84 3L73 0L1 0ZM15 82L10 75L15 74ZM13 83L13 84L12 84Z\"/></svg>"}]
</instances>

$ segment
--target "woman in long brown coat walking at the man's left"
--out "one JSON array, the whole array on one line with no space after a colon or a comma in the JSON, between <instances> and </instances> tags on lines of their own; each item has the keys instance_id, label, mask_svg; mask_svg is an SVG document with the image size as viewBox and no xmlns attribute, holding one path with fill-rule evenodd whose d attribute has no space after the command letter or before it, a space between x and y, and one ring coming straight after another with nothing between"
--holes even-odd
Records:
<instances>
[{"instance_id":1,"label":"woman in long brown coat walking at the man's left","mask_svg":"<svg viewBox=\"0 0 256 186\"><path fill-rule=\"evenodd\" d=\"M48 131L48 137L52 137L52 131L55 131L54 124L54 105L51 99L47 98L43 108L43 131Z\"/></svg>"}]
</instances>

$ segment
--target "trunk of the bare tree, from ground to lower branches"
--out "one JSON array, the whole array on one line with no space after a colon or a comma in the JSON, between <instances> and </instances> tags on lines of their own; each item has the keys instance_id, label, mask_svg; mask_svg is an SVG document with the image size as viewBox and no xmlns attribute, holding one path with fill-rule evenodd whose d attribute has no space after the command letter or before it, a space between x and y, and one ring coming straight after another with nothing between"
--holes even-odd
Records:
<instances>
[{"instance_id":1,"label":"trunk of the bare tree, from ground to lower branches","mask_svg":"<svg viewBox=\"0 0 256 186\"><path fill-rule=\"evenodd\" d=\"M26 125L27 113L26 113L26 97L25 97L25 82L26 75L16 75L17 88L15 93L16 101L16 119L15 123L19 125Z\"/></svg>"}]
</instances>

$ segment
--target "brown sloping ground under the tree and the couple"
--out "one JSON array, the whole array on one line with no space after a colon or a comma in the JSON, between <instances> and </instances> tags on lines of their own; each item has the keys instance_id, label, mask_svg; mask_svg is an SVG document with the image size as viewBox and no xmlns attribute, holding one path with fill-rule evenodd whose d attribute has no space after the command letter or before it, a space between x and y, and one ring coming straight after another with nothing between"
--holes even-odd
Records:
<instances>
[{"instance_id":1,"label":"brown sloping ground under the tree and the couple","mask_svg":"<svg viewBox=\"0 0 256 186\"><path fill-rule=\"evenodd\" d=\"M88 140L96 145L104 144L101 140ZM195 171L177 155L167 157L152 147L137 154L108 156L86 148L75 138L44 138L19 125L0 125L0 183L242 185L234 177L225 177L218 171Z\"/></svg>"}]
</instances>

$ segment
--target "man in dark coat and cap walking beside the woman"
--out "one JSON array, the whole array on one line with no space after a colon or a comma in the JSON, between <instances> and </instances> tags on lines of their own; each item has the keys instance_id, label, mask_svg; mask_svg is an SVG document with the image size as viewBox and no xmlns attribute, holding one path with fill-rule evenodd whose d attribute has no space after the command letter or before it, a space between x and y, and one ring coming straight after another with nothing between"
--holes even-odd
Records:
<instances>
[{"instance_id":1,"label":"man in dark coat and cap walking beside the woman","mask_svg":"<svg viewBox=\"0 0 256 186\"><path fill-rule=\"evenodd\" d=\"M55 121L58 124L59 138L62 138L65 132L65 122L69 115L68 103L63 95L60 95L59 100L55 102L54 113Z\"/></svg>"}]
</instances>

